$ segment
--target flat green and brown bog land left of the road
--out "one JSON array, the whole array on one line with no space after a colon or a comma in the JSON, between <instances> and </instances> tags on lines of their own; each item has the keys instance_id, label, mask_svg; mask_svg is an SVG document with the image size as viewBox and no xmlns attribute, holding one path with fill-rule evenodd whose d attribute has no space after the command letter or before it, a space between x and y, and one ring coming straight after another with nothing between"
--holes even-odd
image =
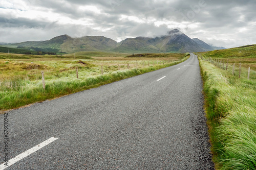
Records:
<instances>
[{"instance_id":1,"label":"flat green and brown bog land left of the road","mask_svg":"<svg viewBox=\"0 0 256 170\"><path fill-rule=\"evenodd\" d=\"M129 55L132 54L78 52L40 56L0 53L0 110L51 100L175 65L189 57L187 54L126 57Z\"/></svg>"}]
</instances>

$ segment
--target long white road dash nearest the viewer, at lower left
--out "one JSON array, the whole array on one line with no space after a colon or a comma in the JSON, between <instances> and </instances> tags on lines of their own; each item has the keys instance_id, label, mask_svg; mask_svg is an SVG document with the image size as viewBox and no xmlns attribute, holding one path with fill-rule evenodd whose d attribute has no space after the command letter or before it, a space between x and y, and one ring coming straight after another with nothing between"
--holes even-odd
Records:
<instances>
[{"instance_id":1,"label":"long white road dash nearest the viewer, at lower left","mask_svg":"<svg viewBox=\"0 0 256 170\"><path fill-rule=\"evenodd\" d=\"M38 151L39 149L45 147L46 145L50 144L51 142L53 142L53 141L55 141L55 140L57 140L57 139L58 139L58 138L51 137L50 139L47 139L46 141L41 142L40 144L37 144L35 147L29 149L28 151L26 151L26 152L24 152L24 153L21 153L21 154L19 154L18 156L16 156L16 157L10 159L10 160L8 161L7 166L5 165L6 163L1 164L1 165L0 165L0 170L3 170L3 169L5 169L5 168L11 166L12 164L14 164L14 163L16 163L16 162L22 160L23 158L25 158L25 157L29 156L30 154L32 154L32 153Z\"/></svg>"}]
</instances>

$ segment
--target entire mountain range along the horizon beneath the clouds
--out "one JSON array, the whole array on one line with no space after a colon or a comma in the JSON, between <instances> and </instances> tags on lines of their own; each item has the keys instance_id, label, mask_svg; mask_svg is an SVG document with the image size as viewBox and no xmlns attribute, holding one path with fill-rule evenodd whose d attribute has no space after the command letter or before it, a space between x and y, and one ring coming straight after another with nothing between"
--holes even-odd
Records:
<instances>
[{"instance_id":1,"label":"entire mountain range along the horizon beneath the clouds","mask_svg":"<svg viewBox=\"0 0 256 170\"><path fill-rule=\"evenodd\" d=\"M204 41L191 39L178 29L169 31L167 35L148 38L127 38L121 42L104 36L84 36L72 38L69 35L61 35L47 41L26 41L11 44L17 48L58 51L74 53L81 51L102 51L120 53L185 53L206 52L223 49L224 47L210 46Z\"/></svg>"}]
</instances>

